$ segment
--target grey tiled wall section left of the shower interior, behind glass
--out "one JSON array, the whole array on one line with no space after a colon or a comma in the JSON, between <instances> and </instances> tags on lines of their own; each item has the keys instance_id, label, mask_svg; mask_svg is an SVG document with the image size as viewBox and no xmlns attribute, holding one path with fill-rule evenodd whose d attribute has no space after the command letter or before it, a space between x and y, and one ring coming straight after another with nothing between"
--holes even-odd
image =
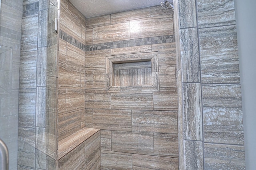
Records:
<instances>
[{"instance_id":1,"label":"grey tiled wall section left of the shower interior, behind glass","mask_svg":"<svg viewBox=\"0 0 256 170\"><path fill-rule=\"evenodd\" d=\"M56 127L52 115L56 106L52 101L56 101L57 35L54 37L52 21L58 17L58 5L57 0L23 0L18 169L40 170L55 166L56 140L52 129ZM54 44L56 50L52 48Z\"/></svg>"}]
</instances>

